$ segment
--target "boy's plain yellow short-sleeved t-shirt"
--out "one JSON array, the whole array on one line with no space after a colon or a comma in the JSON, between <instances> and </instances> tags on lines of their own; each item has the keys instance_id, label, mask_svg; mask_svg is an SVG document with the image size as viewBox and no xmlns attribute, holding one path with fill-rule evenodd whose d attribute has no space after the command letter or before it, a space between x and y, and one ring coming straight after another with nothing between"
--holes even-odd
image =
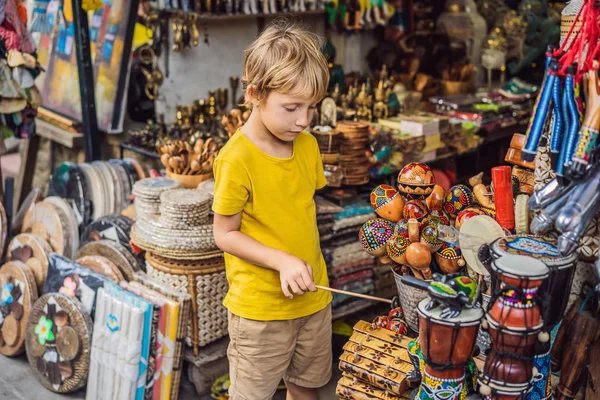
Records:
<instances>
[{"instance_id":1,"label":"boy's plain yellow short-sleeved t-shirt","mask_svg":"<svg viewBox=\"0 0 600 400\"><path fill-rule=\"evenodd\" d=\"M290 158L266 154L237 131L214 164L213 211L242 212L240 231L260 243L306 261L315 284L328 286L317 228L315 190L326 185L316 139L302 132ZM288 299L279 273L225 254L229 291L223 304L242 318L271 321L301 318L331 302L326 291ZM285 266L282 266L285 268Z\"/></svg>"}]
</instances>

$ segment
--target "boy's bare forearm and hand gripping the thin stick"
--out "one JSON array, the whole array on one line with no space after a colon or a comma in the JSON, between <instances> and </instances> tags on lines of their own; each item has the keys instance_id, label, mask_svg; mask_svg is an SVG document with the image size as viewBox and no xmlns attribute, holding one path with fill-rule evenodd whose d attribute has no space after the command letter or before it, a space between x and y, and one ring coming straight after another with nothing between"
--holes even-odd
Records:
<instances>
[{"instance_id":1,"label":"boy's bare forearm and hand gripping the thin stick","mask_svg":"<svg viewBox=\"0 0 600 400\"><path fill-rule=\"evenodd\" d=\"M241 221L241 212L234 215L215 213L215 242L221 250L254 265L279 272L281 290L290 299L294 297L293 294L302 295L317 290L310 265L298 257L265 246L240 232Z\"/></svg>"}]
</instances>

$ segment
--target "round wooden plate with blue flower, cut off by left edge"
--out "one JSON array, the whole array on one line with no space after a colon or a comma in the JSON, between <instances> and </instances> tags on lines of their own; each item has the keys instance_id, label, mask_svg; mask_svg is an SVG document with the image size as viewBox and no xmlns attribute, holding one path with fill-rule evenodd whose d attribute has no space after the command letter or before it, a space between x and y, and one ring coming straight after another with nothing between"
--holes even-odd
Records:
<instances>
[{"instance_id":1,"label":"round wooden plate with blue flower, cut off by left edge","mask_svg":"<svg viewBox=\"0 0 600 400\"><path fill-rule=\"evenodd\" d=\"M33 273L21 261L0 269L0 353L13 357L25 350L27 318L38 291Z\"/></svg>"}]
</instances>

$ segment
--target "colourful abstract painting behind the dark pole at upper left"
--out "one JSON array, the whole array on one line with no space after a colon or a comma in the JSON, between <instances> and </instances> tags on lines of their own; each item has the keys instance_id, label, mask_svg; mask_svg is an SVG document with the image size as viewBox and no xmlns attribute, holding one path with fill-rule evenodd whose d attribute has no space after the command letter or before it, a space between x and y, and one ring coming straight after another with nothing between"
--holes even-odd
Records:
<instances>
[{"instance_id":1,"label":"colourful abstract painting behind the dark pole at upper left","mask_svg":"<svg viewBox=\"0 0 600 400\"><path fill-rule=\"evenodd\" d=\"M104 6L89 13L89 28L98 128L107 133L123 131L131 46L139 0L103 0ZM37 85L43 107L81 122L79 75L71 0L52 0L47 16L52 32L42 34L38 60L46 70Z\"/></svg>"}]
</instances>

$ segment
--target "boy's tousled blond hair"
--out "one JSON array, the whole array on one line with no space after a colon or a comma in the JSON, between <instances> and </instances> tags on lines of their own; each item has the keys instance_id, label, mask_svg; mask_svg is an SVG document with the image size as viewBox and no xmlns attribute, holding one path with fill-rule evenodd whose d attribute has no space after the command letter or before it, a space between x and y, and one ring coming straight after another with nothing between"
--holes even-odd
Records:
<instances>
[{"instance_id":1,"label":"boy's tousled blond hair","mask_svg":"<svg viewBox=\"0 0 600 400\"><path fill-rule=\"evenodd\" d=\"M323 39L281 18L270 24L244 52L244 90L252 86L264 101L272 91L320 101L327 93L329 69Z\"/></svg>"}]
</instances>

